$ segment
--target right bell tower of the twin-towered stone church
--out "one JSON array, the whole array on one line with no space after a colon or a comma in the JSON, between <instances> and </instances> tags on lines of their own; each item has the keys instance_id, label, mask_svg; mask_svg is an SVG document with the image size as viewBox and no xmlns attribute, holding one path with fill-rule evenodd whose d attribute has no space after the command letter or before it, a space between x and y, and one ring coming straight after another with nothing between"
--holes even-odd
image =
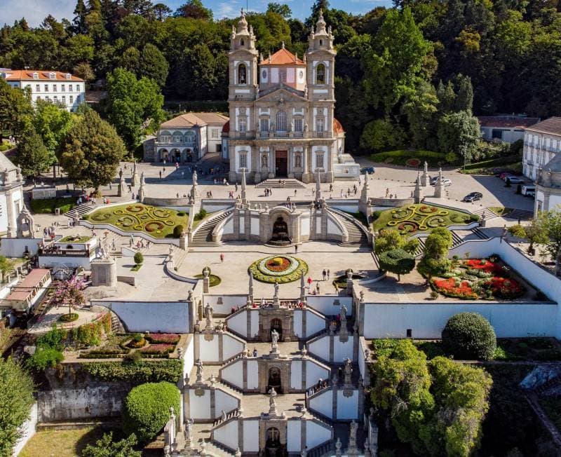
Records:
<instances>
[{"instance_id":1,"label":"right bell tower of the twin-towered stone church","mask_svg":"<svg viewBox=\"0 0 561 457\"><path fill-rule=\"evenodd\" d=\"M311 27L306 51L306 81L309 100L334 100L335 54L331 27L326 28L323 13L320 10L316 29Z\"/></svg>"}]
</instances>

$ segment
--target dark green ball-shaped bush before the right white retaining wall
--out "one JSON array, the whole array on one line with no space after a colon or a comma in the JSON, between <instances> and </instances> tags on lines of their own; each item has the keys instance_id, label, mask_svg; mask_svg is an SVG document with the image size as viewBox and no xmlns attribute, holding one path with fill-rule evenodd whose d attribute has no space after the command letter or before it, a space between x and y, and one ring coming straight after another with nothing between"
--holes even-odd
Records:
<instances>
[{"instance_id":1,"label":"dark green ball-shaped bush before the right white retaining wall","mask_svg":"<svg viewBox=\"0 0 561 457\"><path fill-rule=\"evenodd\" d=\"M442 330L442 349L459 360L491 360L496 350L495 331L478 313L453 315Z\"/></svg>"}]
</instances>

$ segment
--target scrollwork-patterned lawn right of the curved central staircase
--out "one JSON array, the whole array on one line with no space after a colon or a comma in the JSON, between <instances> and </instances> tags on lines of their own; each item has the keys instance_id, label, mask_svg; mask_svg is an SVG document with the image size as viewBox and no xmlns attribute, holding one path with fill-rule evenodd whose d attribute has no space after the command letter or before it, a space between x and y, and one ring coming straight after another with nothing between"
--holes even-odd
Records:
<instances>
[{"instance_id":1,"label":"scrollwork-patterned lawn right of the curved central staircase","mask_svg":"<svg viewBox=\"0 0 561 457\"><path fill-rule=\"evenodd\" d=\"M469 224L476 218L463 211L423 204L408 205L379 212L379 217L374 221L374 230L397 230L402 235L412 235L436 227Z\"/></svg>"}]
</instances>

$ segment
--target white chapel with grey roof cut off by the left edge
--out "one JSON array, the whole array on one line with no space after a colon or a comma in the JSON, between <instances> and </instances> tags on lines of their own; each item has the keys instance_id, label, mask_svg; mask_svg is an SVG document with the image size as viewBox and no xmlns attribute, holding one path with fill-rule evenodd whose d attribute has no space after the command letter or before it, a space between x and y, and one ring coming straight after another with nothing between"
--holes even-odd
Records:
<instances>
[{"instance_id":1,"label":"white chapel with grey roof cut off by the left edge","mask_svg":"<svg viewBox=\"0 0 561 457\"><path fill-rule=\"evenodd\" d=\"M15 236L16 219L23 209L23 177L0 153L0 236Z\"/></svg>"}]
</instances>

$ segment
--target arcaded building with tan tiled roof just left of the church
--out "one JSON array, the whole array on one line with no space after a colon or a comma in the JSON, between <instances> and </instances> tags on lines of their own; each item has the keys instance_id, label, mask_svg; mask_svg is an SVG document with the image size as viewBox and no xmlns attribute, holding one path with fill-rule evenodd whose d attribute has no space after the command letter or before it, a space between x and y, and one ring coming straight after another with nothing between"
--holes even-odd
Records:
<instances>
[{"instance_id":1,"label":"arcaded building with tan tiled roof just left of the church","mask_svg":"<svg viewBox=\"0 0 561 457\"><path fill-rule=\"evenodd\" d=\"M219 113L181 114L160 125L158 136L144 142L149 162L196 162L209 152L222 152L222 128L227 116Z\"/></svg>"}]
</instances>

